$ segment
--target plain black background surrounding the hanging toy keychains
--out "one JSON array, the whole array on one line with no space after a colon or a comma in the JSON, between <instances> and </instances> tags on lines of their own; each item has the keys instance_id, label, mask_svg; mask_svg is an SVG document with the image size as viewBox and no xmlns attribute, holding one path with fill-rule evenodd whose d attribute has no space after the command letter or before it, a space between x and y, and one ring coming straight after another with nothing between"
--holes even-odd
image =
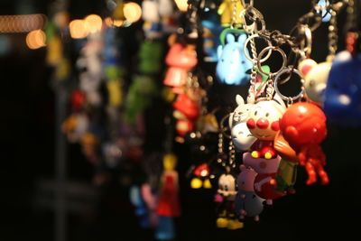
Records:
<instances>
[{"instance_id":1,"label":"plain black background surrounding the hanging toy keychains","mask_svg":"<svg viewBox=\"0 0 361 241\"><path fill-rule=\"evenodd\" d=\"M100 0L69 2L73 18L99 13L103 7ZM51 1L2 0L0 14L20 14L19 5L26 3L32 4L33 13L46 14ZM310 1L258 0L255 7L264 14L268 29L289 32L297 19L309 11ZM342 49L342 16L339 26ZM51 198L48 204L40 201L48 194L39 193L38 184L41 180L53 180L55 174L51 70L44 63L45 49L28 50L24 34L7 36L12 41L12 49L0 57L0 240L53 240ZM315 32L313 48L312 57L317 61L324 60L327 55L325 24ZM236 93L245 93L245 88L222 87L218 95L220 101L232 103ZM212 202L214 193L190 190L185 178L180 177L183 215L176 220L178 240L324 240L337 236L356 239L361 214L360 136L360 128L329 124L329 136L323 143L328 158L329 185L306 186L306 175L301 170L297 193L275 200L272 208L264 210L259 224L247 222L242 230L218 230ZM176 150L187 151L178 145ZM184 173L188 168L184 163L188 162L181 161L180 158L180 173ZM69 179L90 186L92 191L89 185L92 169L79 149L73 146L69 147L68 175ZM97 201L80 200L75 202L80 203L80 211L69 210L69 240L153 239L152 230L138 226L127 190L109 185L97 193L100 193Z\"/></svg>"}]
</instances>

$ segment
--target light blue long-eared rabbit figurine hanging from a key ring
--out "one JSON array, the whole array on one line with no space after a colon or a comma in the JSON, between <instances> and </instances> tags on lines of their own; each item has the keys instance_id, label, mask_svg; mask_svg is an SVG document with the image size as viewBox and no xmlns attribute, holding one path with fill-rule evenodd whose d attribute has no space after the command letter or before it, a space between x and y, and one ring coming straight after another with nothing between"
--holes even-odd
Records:
<instances>
[{"instance_id":1,"label":"light blue long-eared rabbit figurine hanging from a key ring","mask_svg":"<svg viewBox=\"0 0 361 241\"><path fill-rule=\"evenodd\" d=\"M224 32L227 30L224 30ZM246 39L247 34L245 32L239 33L237 41L233 32L227 32L227 44L218 46L216 71L221 83L227 85L246 85L250 80L250 75L246 71L252 69L252 62L245 57L244 46Z\"/></svg>"}]
</instances>

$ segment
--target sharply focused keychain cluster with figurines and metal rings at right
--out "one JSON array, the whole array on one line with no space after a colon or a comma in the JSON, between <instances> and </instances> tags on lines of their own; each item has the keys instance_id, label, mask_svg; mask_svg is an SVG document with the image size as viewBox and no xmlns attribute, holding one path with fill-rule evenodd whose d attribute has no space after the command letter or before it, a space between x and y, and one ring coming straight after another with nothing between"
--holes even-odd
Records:
<instances>
[{"instance_id":1,"label":"sharply focused keychain cluster with figurines and metal rings at right","mask_svg":"<svg viewBox=\"0 0 361 241\"><path fill-rule=\"evenodd\" d=\"M336 54L338 14L345 8L347 51ZM218 12L227 14L221 17L227 28L219 36L217 79L227 85L249 84L249 89L247 97L236 96L236 109L221 121L218 163L226 171L218 176L218 227L241 228L246 217L258 221L264 205L295 192L298 166L308 174L306 184L329 183L321 147L327 117L339 125L361 125L355 106L361 84L355 9L352 0L312 1L310 12L301 16L290 34L283 34L266 29L254 1L219 6ZM322 22L329 24L329 55L317 63L310 59L312 36ZM267 46L261 49L257 39ZM278 70L263 65L274 52L282 57ZM342 79L345 75L347 82ZM283 95L280 86L297 78L301 92Z\"/></svg>"}]
</instances>

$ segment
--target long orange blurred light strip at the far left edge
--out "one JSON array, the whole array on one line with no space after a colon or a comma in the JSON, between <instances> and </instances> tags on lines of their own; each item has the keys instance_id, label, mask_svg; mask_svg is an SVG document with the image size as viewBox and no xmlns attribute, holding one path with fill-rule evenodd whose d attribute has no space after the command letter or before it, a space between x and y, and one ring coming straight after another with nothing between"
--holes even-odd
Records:
<instances>
[{"instance_id":1,"label":"long orange blurred light strip at the far left edge","mask_svg":"<svg viewBox=\"0 0 361 241\"><path fill-rule=\"evenodd\" d=\"M0 15L0 32L31 32L42 29L46 20L44 14Z\"/></svg>"}]
</instances>

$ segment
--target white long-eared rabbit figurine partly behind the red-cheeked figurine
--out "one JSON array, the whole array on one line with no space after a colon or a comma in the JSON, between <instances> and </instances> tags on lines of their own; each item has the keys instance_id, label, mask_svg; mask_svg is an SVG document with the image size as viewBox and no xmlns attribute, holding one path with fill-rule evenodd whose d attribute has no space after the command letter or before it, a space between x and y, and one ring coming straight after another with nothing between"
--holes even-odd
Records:
<instances>
[{"instance_id":1,"label":"white long-eared rabbit figurine partly behind the red-cheeked figurine","mask_svg":"<svg viewBox=\"0 0 361 241\"><path fill-rule=\"evenodd\" d=\"M245 104L245 100L239 95L236 95L236 104L238 107L229 115L229 128L231 129L232 142L235 144L236 151L248 151L256 140L246 125L249 110L253 104Z\"/></svg>"}]
</instances>

